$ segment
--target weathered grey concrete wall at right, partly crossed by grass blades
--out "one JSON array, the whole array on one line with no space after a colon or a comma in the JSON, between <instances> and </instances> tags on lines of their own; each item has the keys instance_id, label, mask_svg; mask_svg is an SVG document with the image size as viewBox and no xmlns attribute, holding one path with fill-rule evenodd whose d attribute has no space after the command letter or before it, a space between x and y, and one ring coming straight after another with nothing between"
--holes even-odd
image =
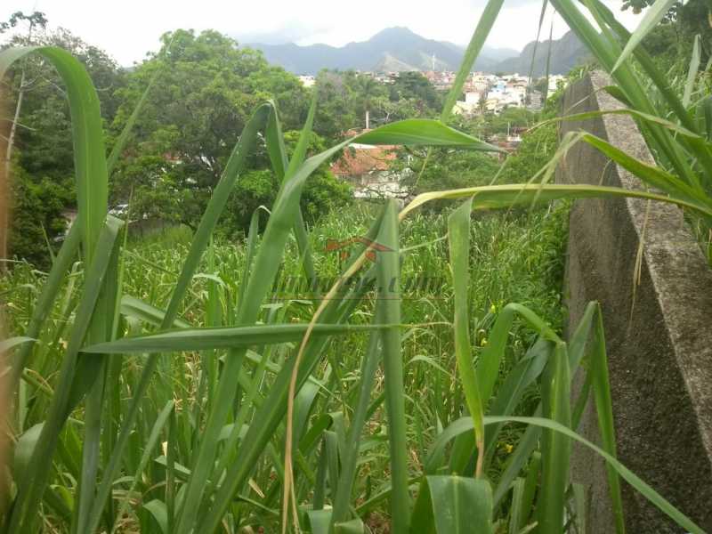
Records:
<instances>
[{"instance_id":1,"label":"weathered grey concrete wall at right, partly crossed by grass blades","mask_svg":"<svg viewBox=\"0 0 712 534\"><path fill-rule=\"evenodd\" d=\"M566 92L566 114L621 105L594 73ZM562 123L585 129L653 163L635 123L609 115ZM570 150L557 182L641 189L641 183L585 143ZM640 285L634 271L643 221ZM619 459L702 528L712 532L712 271L675 206L634 199L587 199L570 214L567 259L570 326L586 303L602 304ZM598 441L593 402L579 431ZM591 532L614 531L603 462L576 447L572 478L589 491ZM681 532L624 482L627 529Z\"/></svg>"}]
</instances>

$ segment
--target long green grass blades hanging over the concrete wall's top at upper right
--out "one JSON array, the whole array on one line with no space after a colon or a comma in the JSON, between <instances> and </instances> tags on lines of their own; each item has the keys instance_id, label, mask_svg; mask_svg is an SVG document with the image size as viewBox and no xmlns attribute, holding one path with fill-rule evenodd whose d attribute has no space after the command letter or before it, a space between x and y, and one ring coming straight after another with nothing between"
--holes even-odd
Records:
<instances>
[{"instance_id":1,"label":"long green grass blades hanging over the concrete wall's top at upper right","mask_svg":"<svg viewBox=\"0 0 712 534\"><path fill-rule=\"evenodd\" d=\"M654 190L669 198L689 201L702 207L687 210L693 228L706 245L712 263L710 229L712 218L712 95L700 71L700 36L690 51L687 77L676 80L662 72L645 51L643 38L659 24L672 4L657 0L645 13L638 28L629 32L611 10L599 0L577 3L552 0L551 4L571 30L587 45L598 65L611 75L615 85L606 90L617 98L622 109L592 114L570 114L565 120L598 117L605 113L624 113L633 117L648 143L656 165L641 161L591 134L570 133L564 146L587 142L620 166L635 174ZM588 16L586 16L588 15ZM565 154L562 150L561 156Z\"/></svg>"}]
</instances>

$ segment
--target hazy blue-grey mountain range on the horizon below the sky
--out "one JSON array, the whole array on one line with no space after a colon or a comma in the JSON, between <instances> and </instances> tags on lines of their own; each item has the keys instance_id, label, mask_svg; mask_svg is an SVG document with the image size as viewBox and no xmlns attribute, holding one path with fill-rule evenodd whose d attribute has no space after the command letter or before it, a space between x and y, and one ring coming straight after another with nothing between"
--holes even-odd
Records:
<instances>
[{"instance_id":1,"label":"hazy blue-grey mountain range on the horizon below the sky","mask_svg":"<svg viewBox=\"0 0 712 534\"><path fill-rule=\"evenodd\" d=\"M287 44L248 44L264 53L267 61L295 74L316 74L320 69L365 71L457 70L465 49L447 41L426 39L408 28L386 28L368 41L336 47L328 44L300 46ZM534 42L522 53L511 48L485 45L474 63L475 70L486 72L529 73ZM538 44L534 76L546 71L548 41ZM552 42L551 74L565 74L586 56L583 44L571 32Z\"/></svg>"}]
</instances>

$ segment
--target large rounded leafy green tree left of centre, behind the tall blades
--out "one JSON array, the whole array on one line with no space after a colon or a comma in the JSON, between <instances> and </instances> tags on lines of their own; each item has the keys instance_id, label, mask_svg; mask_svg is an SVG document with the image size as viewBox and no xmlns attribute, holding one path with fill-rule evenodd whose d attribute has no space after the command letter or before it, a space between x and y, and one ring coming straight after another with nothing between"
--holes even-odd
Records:
<instances>
[{"instance_id":1,"label":"large rounded leafy green tree left of centre, behind the tall blades","mask_svg":"<svg viewBox=\"0 0 712 534\"><path fill-rule=\"evenodd\" d=\"M195 227L252 110L273 99L282 123L296 128L309 99L296 77L216 31L179 29L161 40L161 50L134 70L120 92L115 134L150 79L155 77L160 88L150 93L134 125L125 161L112 181L112 198L125 201L132 187L150 182L161 190L153 211ZM266 168L263 147L249 166Z\"/></svg>"}]
</instances>

